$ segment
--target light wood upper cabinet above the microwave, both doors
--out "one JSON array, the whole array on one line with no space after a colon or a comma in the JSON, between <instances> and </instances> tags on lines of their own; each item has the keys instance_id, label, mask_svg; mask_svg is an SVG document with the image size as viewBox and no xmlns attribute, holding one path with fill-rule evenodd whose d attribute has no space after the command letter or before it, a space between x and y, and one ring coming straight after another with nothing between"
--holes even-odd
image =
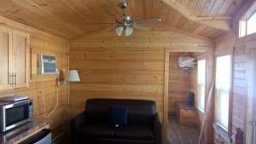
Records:
<instances>
[{"instance_id":1,"label":"light wood upper cabinet above the microwave, both doors","mask_svg":"<svg viewBox=\"0 0 256 144\"><path fill-rule=\"evenodd\" d=\"M0 89L29 86L29 34L0 26Z\"/></svg>"}]
</instances>

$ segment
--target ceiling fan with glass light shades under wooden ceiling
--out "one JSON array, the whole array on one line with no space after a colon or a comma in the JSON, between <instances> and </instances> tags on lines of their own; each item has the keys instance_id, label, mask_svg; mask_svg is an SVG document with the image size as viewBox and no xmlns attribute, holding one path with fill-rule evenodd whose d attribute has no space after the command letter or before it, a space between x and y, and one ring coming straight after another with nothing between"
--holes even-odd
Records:
<instances>
[{"instance_id":1,"label":"ceiling fan with glass light shades under wooden ceiling","mask_svg":"<svg viewBox=\"0 0 256 144\"><path fill-rule=\"evenodd\" d=\"M131 36L133 29L138 31L150 31L151 28L142 26L144 24L157 24L162 20L160 18L149 18L141 20L132 20L131 16L125 14L125 9L128 7L128 2L119 3L119 8L123 9L123 15L112 14L118 26L115 28L115 32L118 36L121 36L125 31L125 36Z\"/></svg>"}]
</instances>

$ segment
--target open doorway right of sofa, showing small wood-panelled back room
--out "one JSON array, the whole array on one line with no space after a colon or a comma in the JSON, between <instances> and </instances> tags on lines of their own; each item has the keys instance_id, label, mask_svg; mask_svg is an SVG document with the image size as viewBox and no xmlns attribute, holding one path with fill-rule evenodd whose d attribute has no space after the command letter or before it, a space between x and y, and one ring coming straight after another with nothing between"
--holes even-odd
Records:
<instances>
[{"instance_id":1,"label":"open doorway right of sofa, showing small wood-panelled back room","mask_svg":"<svg viewBox=\"0 0 256 144\"><path fill-rule=\"evenodd\" d=\"M183 67L181 63L190 63L189 59L194 65L192 63ZM195 98L191 102L192 106L187 103L189 91L195 94L196 90L191 87L196 84L197 66L194 59L194 53L169 54L168 143L195 144L200 135L200 130L195 125L199 123Z\"/></svg>"}]
</instances>

